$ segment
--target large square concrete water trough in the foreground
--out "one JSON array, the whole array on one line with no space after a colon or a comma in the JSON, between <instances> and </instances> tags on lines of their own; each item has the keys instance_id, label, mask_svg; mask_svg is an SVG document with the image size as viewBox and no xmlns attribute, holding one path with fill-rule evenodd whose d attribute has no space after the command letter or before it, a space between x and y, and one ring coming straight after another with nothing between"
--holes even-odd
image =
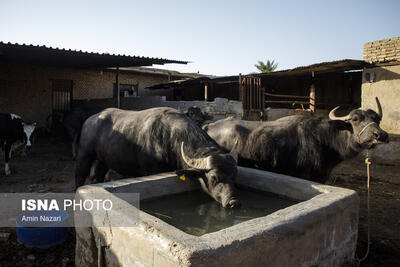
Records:
<instances>
[{"instance_id":1,"label":"large square concrete water trough in the foreground","mask_svg":"<svg viewBox=\"0 0 400 267\"><path fill-rule=\"evenodd\" d=\"M236 182L297 204L196 236L122 199L114 200L118 208L107 217L126 225L77 227L76 265L341 266L353 259L359 210L354 191L241 167ZM77 195L90 199L96 194L136 192L140 201L146 201L198 189L196 182L166 173L84 186ZM104 216L92 214L93 220Z\"/></svg>"}]
</instances>

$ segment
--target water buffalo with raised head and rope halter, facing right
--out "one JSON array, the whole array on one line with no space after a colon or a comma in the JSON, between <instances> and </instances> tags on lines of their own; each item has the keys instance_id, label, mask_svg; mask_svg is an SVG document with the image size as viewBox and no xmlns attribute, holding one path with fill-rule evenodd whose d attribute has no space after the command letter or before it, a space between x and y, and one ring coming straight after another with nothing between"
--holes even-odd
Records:
<instances>
[{"instance_id":1,"label":"water buffalo with raised head and rope halter, facing right","mask_svg":"<svg viewBox=\"0 0 400 267\"><path fill-rule=\"evenodd\" d=\"M337 117L294 115L276 121L245 122L233 118L210 123L204 130L224 149L238 141L238 164L324 183L333 167L366 148L389 142L378 113L356 109Z\"/></svg>"}]
</instances>

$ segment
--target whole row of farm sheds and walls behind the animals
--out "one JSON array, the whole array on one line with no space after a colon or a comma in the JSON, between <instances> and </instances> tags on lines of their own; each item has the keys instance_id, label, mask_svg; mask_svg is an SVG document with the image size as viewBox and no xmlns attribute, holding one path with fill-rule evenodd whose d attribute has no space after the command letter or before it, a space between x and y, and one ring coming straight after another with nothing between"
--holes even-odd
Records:
<instances>
[{"instance_id":1,"label":"whole row of farm sheds and walls behind the animals","mask_svg":"<svg viewBox=\"0 0 400 267\"><path fill-rule=\"evenodd\" d=\"M377 96L385 111L383 129L400 134L399 51L400 38L390 38L366 43L363 60L216 77L138 67L185 61L0 42L0 112L20 114L43 126L54 111L88 100L91 106L124 108L130 97L162 96L131 98L129 108L172 105L164 100L226 98L242 102L245 119L274 120L299 112L327 114L336 106L342 112L374 108Z\"/></svg>"}]
</instances>

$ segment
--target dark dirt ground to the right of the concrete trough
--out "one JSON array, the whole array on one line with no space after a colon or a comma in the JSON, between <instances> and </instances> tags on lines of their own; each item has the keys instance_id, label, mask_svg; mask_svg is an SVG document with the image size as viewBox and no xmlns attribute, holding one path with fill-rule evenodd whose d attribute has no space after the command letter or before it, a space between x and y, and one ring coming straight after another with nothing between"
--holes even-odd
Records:
<instances>
[{"instance_id":1,"label":"dark dirt ground to the right of the concrete trough","mask_svg":"<svg viewBox=\"0 0 400 267\"><path fill-rule=\"evenodd\" d=\"M362 158L343 162L332 173L335 186L353 189L360 197L358 258L364 257L367 251L366 177ZM400 164L371 165L370 196L371 246L361 266L400 266Z\"/></svg>"}]
</instances>

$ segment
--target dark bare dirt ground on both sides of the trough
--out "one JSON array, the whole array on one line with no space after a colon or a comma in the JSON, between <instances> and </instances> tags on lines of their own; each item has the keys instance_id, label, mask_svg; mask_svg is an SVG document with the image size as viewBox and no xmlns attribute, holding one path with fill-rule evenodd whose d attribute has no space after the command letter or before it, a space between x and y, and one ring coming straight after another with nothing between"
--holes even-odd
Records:
<instances>
[{"instance_id":1,"label":"dark bare dirt ground on both sides of the trough","mask_svg":"<svg viewBox=\"0 0 400 267\"><path fill-rule=\"evenodd\" d=\"M1 152L1 151L0 151ZM16 153L17 154L17 153ZM28 156L14 155L12 174L4 175L0 155L0 192L72 192L74 165L70 146L63 138L40 138ZM371 249L361 266L400 266L400 164L371 166ZM358 192L361 200L359 238L356 256L367 249L367 190L364 160L343 162L332 174L335 186ZM1 204L3 205L3 203ZM0 266L74 266L75 232L50 249L27 248L17 241L14 228L0 237Z\"/></svg>"}]
</instances>

